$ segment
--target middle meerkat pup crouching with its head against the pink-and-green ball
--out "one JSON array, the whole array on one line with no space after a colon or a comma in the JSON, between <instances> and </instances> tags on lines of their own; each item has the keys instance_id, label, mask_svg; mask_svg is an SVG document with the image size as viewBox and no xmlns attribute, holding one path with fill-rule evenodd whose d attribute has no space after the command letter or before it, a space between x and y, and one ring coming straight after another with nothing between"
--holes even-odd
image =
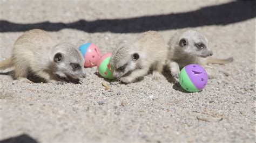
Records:
<instances>
[{"instance_id":1,"label":"middle meerkat pup crouching with its head against the pink-and-green ball","mask_svg":"<svg viewBox=\"0 0 256 143\"><path fill-rule=\"evenodd\" d=\"M160 78L168 48L164 38L156 31L139 35L133 44L120 44L110 61L114 67L113 76L123 83L131 83L152 69L153 78Z\"/></svg>"}]
</instances>

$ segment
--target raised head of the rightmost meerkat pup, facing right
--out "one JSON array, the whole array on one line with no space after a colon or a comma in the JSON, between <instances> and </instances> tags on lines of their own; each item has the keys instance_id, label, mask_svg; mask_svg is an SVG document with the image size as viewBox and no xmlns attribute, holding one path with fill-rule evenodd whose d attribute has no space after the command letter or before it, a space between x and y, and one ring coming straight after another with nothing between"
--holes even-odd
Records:
<instances>
[{"instance_id":1,"label":"raised head of the rightmost meerkat pup, facing right","mask_svg":"<svg viewBox=\"0 0 256 143\"><path fill-rule=\"evenodd\" d=\"M178 45L179 51L189 55L206 58L213 54L208 47L208 40L205 35L194 30L187 30L181 33L176 45Z\"/></svg>"}]
</instances>

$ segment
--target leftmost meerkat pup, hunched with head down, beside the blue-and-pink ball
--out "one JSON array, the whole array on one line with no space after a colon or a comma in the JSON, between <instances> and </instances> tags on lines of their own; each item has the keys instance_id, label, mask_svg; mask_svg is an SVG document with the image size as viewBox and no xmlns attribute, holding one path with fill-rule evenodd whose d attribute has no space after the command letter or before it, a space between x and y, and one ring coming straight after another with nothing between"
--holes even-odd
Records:
<instances>
[{"instance_id":1,"label":"leftmost meerkat pup, hunched with head down, beside the blue-and-pink ball","mask_svg":"<svg viewBox=\"0 0 256 143\"><path fill-rule=\"evenodd\" d=\"M82 54L71 44L55 44L50 35L35 29L19 37L12 49L12 56L0 62L0 69L14 66L15 78L32 83L28 74L33 73L46 83L79 83L85 77Z\"/></svg>"}]
</instances>

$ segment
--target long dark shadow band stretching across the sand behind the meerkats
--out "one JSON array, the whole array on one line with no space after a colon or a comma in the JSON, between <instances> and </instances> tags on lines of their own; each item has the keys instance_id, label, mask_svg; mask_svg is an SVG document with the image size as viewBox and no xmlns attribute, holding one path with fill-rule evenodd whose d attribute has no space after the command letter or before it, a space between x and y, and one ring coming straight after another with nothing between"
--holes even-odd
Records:
<instances>
[{"instance_id":1,"label":"long dark shadow band stretching across the sand behind the meerkats","mask_svg":"<svg viewBox=\"0 0 256 143\"><path fill-rule=\"evenodd\" d=\"M255 1L235 1L221 5L207 6L199 10L170 13L167 15L143 16L126 19L99 19L91 22L78 20L73 23L18 24L0 20L0 32L28 31L40 28L45 31L59 31L73 28L85 32L136 33L148 30L171 30L206 25L227 25L254 18Z\"/></svg>"}]
</instances>

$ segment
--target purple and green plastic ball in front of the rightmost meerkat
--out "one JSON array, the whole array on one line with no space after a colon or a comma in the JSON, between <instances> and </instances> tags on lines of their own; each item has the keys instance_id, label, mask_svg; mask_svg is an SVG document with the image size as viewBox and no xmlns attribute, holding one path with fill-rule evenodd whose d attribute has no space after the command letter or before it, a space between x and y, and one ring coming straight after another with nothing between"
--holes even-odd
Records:
<instances>
[{"instance_id":1,"label":"purple and green plastic ball in front of the rightmost meerkat","mask_svg":"<svg viewBox=\"0 0 256 143\"><path fill-rule=\"evenodd\" d=\"M188 92L198 92L205 88L208 76L205 69L199 65L191 64L181 69L179 83Z\"/></svg>"}]
</instances>

